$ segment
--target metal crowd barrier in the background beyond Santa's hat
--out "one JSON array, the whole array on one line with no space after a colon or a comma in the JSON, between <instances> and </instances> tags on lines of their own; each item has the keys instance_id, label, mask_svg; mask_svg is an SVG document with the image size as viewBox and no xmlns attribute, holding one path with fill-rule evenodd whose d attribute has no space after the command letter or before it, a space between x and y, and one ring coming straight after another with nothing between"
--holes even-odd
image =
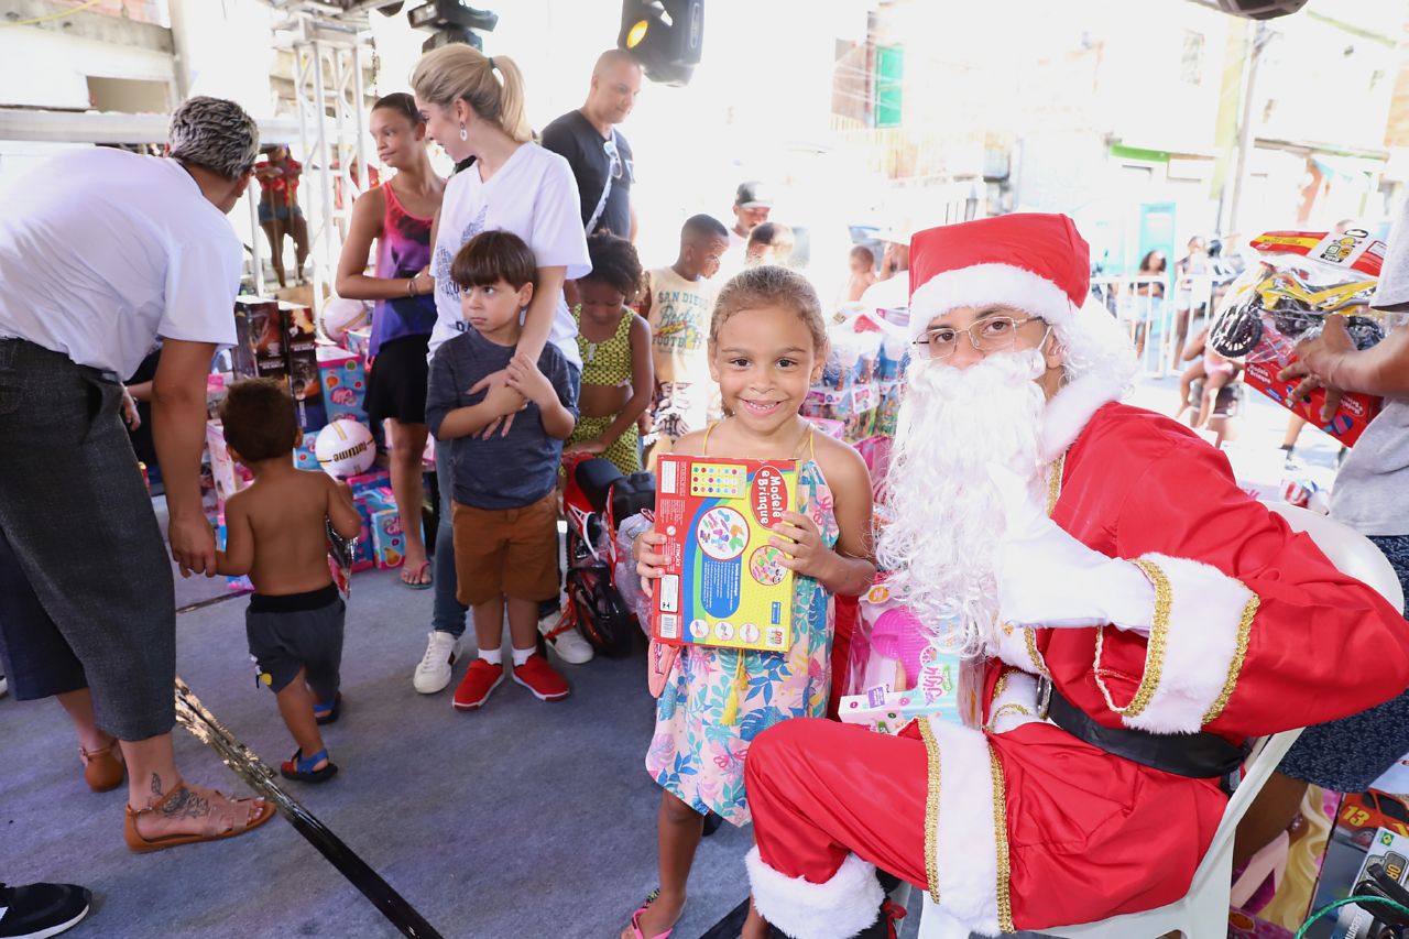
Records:
<instances>
[{"instance_id":1,"label":"metal crowd barrier in the background beyond Santa's hat","mask_svg":"<svg viewBox=\"0 0 1409 939\"><path fill-rule=\"evenodd\" d=\"M1215 312L1213 293L1208 275L1091 279L1092 300L1124 327L1141 374L1157 378L1181 371L1184 347Z\"/></svg>"}]
</instances>

